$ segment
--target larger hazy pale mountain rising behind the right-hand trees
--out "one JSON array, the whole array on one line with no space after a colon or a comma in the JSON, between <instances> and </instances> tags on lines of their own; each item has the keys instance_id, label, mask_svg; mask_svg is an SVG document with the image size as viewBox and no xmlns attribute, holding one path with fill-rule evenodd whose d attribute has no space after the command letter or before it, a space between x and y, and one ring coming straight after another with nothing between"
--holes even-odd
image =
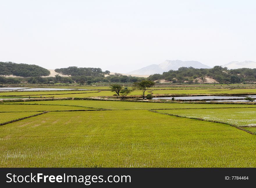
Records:
<instances>
[{"instance_id":1,"label":"larger hazy pale mountain rising behind the right-hand trees","mask_svg":"<svg viewBox=\"0 0 256 188\"><path fill-rule=\"evenodd\" d=\"M197 69L205 68L210 69L211 67L204 65L198 61L181 61L181 60L165 60L164 62L152 64L135 71L128 72L127 74L162 74L169 70L178 70L179 67L194 67Z\"/></svg>"}]
</instances>

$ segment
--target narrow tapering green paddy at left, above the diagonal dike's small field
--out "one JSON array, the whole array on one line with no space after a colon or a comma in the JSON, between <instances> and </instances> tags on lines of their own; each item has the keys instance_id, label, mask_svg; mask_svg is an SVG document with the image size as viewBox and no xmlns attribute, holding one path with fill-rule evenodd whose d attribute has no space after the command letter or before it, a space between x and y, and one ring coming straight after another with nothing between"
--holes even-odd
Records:
<instances>
[{"instance_id":1,"label":"narrow tapering green paddy at left, above the diagonal dike's small field","mask_svg":"<svg viewBox=\"0 0 256 188\"><path fill-rule=\"evenodd\" d=\"M0 112L37 112L55 110L88 110L91 108L61 105L0 104Z\"/></svg>"}]
</instances>

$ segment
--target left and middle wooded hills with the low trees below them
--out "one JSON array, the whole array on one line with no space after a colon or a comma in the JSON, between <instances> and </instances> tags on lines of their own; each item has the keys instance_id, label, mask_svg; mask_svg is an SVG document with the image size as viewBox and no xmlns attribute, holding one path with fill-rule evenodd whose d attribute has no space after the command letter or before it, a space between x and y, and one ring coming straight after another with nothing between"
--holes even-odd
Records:
<instances>
[{"instance_id":1,"label":"left and middle wooded hills with the low trees below them","mask_svg":"<svg viewBox=\"0 0 256 188\"><path fill-rule=\"evenodd\" d=\"M22 76L23 78L9 78L0 76L0 84L18 84L28 82L33 84L47 83L133 83L144 80L135 76L123 76L121 74L110 75L110 71L102 71L101 68L67 67L55 69L59 74L70 75L69 77L59 76L42 78L50 72L37 65L17 64L13 62L0 62L0 75ZM105 77L105 75L109 75Z\"/></svg>"}]
</instances>

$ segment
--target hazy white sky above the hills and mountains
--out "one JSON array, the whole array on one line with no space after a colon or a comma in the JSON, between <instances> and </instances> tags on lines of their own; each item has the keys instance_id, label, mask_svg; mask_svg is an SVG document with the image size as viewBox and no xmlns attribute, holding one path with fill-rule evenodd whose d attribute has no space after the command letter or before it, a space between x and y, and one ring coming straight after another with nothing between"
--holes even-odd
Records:
<instances>
[{"instance_id":1,"label":"hazy white sky above the hills and mountains","mask_svg":"<svg viewBox=\"0 0 256 188\"><path fill-rule=\"evenodd\" d=\"M256 61L254 0L0 0L0 61L126 73Z\"/></svg>"}]
</instances>

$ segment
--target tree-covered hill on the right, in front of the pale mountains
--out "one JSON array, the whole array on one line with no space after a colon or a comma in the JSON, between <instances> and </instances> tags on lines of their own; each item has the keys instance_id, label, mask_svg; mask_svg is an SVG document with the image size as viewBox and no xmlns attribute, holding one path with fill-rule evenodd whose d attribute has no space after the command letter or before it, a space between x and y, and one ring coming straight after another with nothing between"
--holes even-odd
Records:
<instances>
[{"instance_id":1,"label":"tree-covered hill on the right, in front of the pale mountains","mask_svg":"<svg viewBox=\"0 0 256 188\"><path fill-rule=\"evenodd\" d=\"M153 74L149 80L164 79L183 83L185 80L192 83L194 79L209 76L219 83L241 83L256 80L256 69L241 68L228 70L227 67L215 66L211 69L195 69L193 67L180 67L177 71L170 70L163 74Z\"/></svg>"}]
</instances>

